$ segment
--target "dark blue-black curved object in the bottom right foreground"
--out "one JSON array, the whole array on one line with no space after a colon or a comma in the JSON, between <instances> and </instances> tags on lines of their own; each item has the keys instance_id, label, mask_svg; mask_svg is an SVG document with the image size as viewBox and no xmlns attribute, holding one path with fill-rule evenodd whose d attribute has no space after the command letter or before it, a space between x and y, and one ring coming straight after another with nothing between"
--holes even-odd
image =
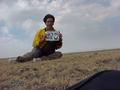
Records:
<instances>
[{"instance_id":1,"label":"dark blue-black curved object in the bottom right foreground","mask_svg":"<svg viewBox=\"0 0 120 90\"><path fill-rule=\"evenodd\" d=\"M120 71L98 72L66 90L120 90Z\"/></svg>"}]
</instances>

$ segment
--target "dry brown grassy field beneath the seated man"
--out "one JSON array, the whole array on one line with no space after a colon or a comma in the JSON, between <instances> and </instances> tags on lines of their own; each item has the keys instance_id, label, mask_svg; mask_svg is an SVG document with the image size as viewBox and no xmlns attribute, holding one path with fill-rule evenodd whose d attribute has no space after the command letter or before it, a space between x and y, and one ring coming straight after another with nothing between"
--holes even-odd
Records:
<instances>
[{"instance_id":1,"label":"dry brown grassy field beneath the seated man","mask_svg":"<svg viewBox=\"0 0 120 90\"><path fill-rule=\"evenodd\" d=\"M64 90L102 70L120 70L120 49L64 54L55 60L0 60L0 90Z\"/></svg>"}]
</instances>

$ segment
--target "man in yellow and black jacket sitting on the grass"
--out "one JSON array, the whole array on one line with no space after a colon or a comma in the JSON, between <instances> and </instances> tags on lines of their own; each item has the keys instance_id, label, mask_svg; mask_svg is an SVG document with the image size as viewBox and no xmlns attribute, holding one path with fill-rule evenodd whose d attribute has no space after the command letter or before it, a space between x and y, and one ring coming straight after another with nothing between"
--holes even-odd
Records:
<instances>
[{"instance_id":1,"label":"man in yellow and black jacket sitting on the grass","mask_svg":"<svg viewBox=\"0 0 120 90\"><path fill-rule=\"evenodd\" d=\"M56 31L53 27L55 22L55 17L51 14L47 14L43 21L46 25L45 28L41 28L35 34L33 39L33 49L31 52L26 53L23 56L18 56L16 61L25 62L32 60L33 58L39 58L42 56L49 56L55 53L55 50L62 47L62 34L59 32L59 40L58 41L46 41L46 32L54 32ZM59 53L61 54L61 53Z\"/></svg>"}]
</instances>

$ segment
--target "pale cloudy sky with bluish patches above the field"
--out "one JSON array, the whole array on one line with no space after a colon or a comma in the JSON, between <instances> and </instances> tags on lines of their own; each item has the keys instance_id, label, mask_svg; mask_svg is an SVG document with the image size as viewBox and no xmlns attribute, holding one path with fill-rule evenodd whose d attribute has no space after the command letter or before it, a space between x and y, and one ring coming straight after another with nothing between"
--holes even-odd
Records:
<instances>
[{"instance_id":1,"label":"pale cloudy sky with bluish patches above the field","mask_svg":"<svg viewBox=\"0 0 120 90\"><path fill-rule=\"evenodd\" d=\"M0 0L0 57L31 51L48 13L63 34L62 52L120 48L120 0Z\"/></svg>"}]
</instances>

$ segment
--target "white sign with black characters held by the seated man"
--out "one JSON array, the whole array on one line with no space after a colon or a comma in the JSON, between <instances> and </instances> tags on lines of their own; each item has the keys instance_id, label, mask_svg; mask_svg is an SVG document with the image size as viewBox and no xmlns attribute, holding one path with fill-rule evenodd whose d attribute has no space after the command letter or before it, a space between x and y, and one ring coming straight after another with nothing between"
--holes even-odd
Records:
<instances>
[{"instance_id":1,"label":"white sign with black characters held by the seated man","mask_svg":"<svg viewBox=\"0 0 120 90\"><path fill-rule=\"evenodd\" d=\"M46 31L45 40L46 41L59 41L59 32L58 31Z\"/></svg>"}]
</instances>

